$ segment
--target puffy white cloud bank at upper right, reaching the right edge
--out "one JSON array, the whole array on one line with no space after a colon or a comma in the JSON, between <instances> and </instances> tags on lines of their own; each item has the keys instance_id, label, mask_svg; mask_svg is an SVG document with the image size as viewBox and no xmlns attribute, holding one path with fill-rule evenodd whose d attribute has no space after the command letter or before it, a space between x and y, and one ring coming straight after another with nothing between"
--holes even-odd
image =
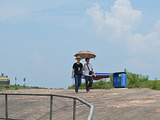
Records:
<instances>
[{"instance_id":1,"label":"puffy white cloud bank at upper right, reaching the right edge","mask_svg":"<svg viewBox=\"0 0 160 120\"><path fill-rule=\"evenodd\" d=\"M143 15L132 8L129 0L117 0L110 12L103 11L95 4L87 9L87 14L93 19L97 35L112 42L125 43L130 52L153 51L160 47L160 20L147 35L133 34Z\"/></svg>"}]
</instances>

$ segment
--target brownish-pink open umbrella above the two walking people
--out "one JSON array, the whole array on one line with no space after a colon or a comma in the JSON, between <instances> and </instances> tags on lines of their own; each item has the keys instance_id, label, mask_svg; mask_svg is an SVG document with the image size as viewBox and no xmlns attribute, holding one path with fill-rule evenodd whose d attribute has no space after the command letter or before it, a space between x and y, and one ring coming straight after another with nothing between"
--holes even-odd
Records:
<instances>
[{"instance_id":1,"label":"brownish-pink open umbrella above the two walking people","mask_svg":"<svg viewBox=\"0 0 160 120\"><path fill-rule=\"evenodd\" d=\"M95 58L96 55L88 50L79 51L74 55L75 57L80 56L82 59L84 58Z\"/></svg>"}]
</instances>

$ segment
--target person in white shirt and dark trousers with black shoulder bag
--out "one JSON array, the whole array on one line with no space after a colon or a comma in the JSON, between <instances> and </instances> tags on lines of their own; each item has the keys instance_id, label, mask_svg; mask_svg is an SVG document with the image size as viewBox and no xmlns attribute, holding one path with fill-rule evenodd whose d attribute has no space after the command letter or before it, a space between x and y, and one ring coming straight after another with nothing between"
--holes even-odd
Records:
<instances>
[{"instance_id":1,"label":"person in white shirt and dark trousers with black shoulder bag","mask_svg":"<svg viewBox=\"0 0 160 120\"><path fill-rule=\"evenodd\" d=\"M84 72L85 72L85 81L86 81L86 92L88 93L90 91L89 88L93 84L92 74L94 74L95 77L96 77L96 74L93 69L93 66L89 63L90 59L86 58L85 61L86 61L86 64L84 64Z\"/></svg>"}]
</instances>

